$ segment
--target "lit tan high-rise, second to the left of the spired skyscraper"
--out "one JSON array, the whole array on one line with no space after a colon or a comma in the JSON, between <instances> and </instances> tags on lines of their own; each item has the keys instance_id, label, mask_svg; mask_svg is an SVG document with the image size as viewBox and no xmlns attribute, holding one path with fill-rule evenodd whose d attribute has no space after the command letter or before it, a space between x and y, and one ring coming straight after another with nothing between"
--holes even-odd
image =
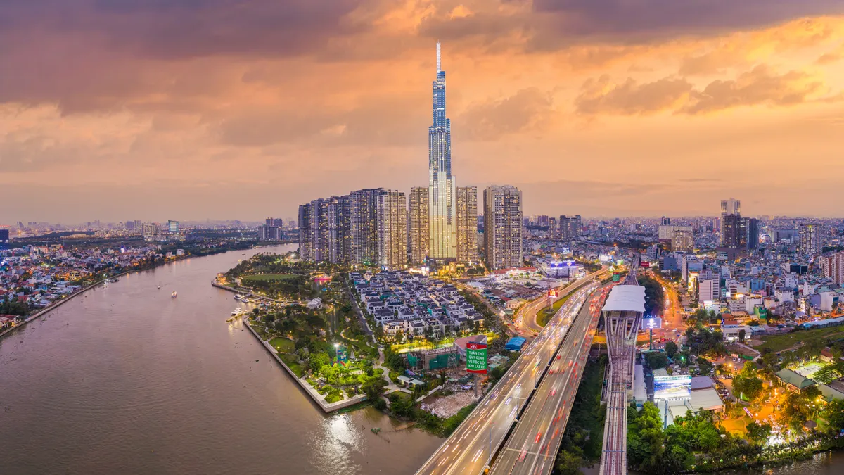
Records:
<instances>
[{"instance_id":1,"label":"lit tan high-rise, second to the left of the spired skyscraper","mask_svg":"<svg viewBox=\"0 0 844 475\"><path fill-rule=\"evenodd\" d=\"M408 262L408 204L400 191L385 190L377 199L378 265L389 269Z\"/></svg>"}]
</instances>

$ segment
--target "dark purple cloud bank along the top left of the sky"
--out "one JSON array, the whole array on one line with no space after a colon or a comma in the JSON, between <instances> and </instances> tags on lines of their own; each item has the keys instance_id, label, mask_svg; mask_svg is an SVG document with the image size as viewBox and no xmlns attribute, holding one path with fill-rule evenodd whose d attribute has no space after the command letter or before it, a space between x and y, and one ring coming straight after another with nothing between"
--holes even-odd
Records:
<instances>
[{"instance_id":1,"label":"dark purple cloud bank along the top left of the sky","mask_svg":"<svg viewBox=\"0 0 844 475\"><path fill-rule=\"evenodd\" d=\"M149 57L289 56L360 31L344 17L363 1L0 0L0 38L78 33Z\"/></svg>"}]
</instances>

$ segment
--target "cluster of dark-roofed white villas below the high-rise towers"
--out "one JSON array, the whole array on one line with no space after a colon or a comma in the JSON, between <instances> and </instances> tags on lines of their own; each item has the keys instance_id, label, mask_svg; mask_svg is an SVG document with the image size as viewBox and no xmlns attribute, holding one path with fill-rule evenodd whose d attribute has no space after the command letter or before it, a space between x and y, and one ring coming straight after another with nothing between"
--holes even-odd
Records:
<instances>
[{"instance_id":1,"label":"cluster of dark-roofed white villas below the high-rise towers","mask_svg":"<svg viewBox=\"0 0 844 475\"><path fill-rule=\"evenodd\" d=\"M360 305L386 335L440 338L446 333L484 327L484 315L457 287L406 271L352 272L351 285Z\"/></svg>"}]
</instances>

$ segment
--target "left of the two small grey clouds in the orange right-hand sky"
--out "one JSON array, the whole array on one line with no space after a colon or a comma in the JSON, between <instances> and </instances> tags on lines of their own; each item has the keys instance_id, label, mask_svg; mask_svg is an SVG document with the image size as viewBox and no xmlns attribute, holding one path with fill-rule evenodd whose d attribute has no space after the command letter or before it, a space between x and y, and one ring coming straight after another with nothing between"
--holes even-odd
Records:
<instances>
[{"instance_id":1,"label":"left of the two small grey clouds in the orange right-hand sky","mask_svg":"<svg viewBox=\"0 0 844 475\"><path fill-rule=\"evenodd\" d=\"M689 95L692 85L682 78L663 78L638 84L628 78L620 85L610 85L609 76L587 79L575 99L581 114L644 115L676 106Z\"/></svg>"}]
</instances>

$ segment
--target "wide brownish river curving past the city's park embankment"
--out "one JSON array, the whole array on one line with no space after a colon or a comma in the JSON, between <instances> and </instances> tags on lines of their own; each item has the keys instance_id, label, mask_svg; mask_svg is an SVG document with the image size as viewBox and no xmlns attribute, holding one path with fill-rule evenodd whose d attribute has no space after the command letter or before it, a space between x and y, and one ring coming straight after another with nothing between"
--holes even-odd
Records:
<instances>
[{"instance_id":1,"label":"wide brownish river curving past the city's park embankment","mask_svg":"<svg viewBox=\"0 0 844 475\"><path fill-rule=\"evenodd\" d=\"M371 408L326 416L225 322L239 303L217 272L291 248L122 276L0 339L0 473L413 473L440 439Z\"/></svg>"}]
</instances>

